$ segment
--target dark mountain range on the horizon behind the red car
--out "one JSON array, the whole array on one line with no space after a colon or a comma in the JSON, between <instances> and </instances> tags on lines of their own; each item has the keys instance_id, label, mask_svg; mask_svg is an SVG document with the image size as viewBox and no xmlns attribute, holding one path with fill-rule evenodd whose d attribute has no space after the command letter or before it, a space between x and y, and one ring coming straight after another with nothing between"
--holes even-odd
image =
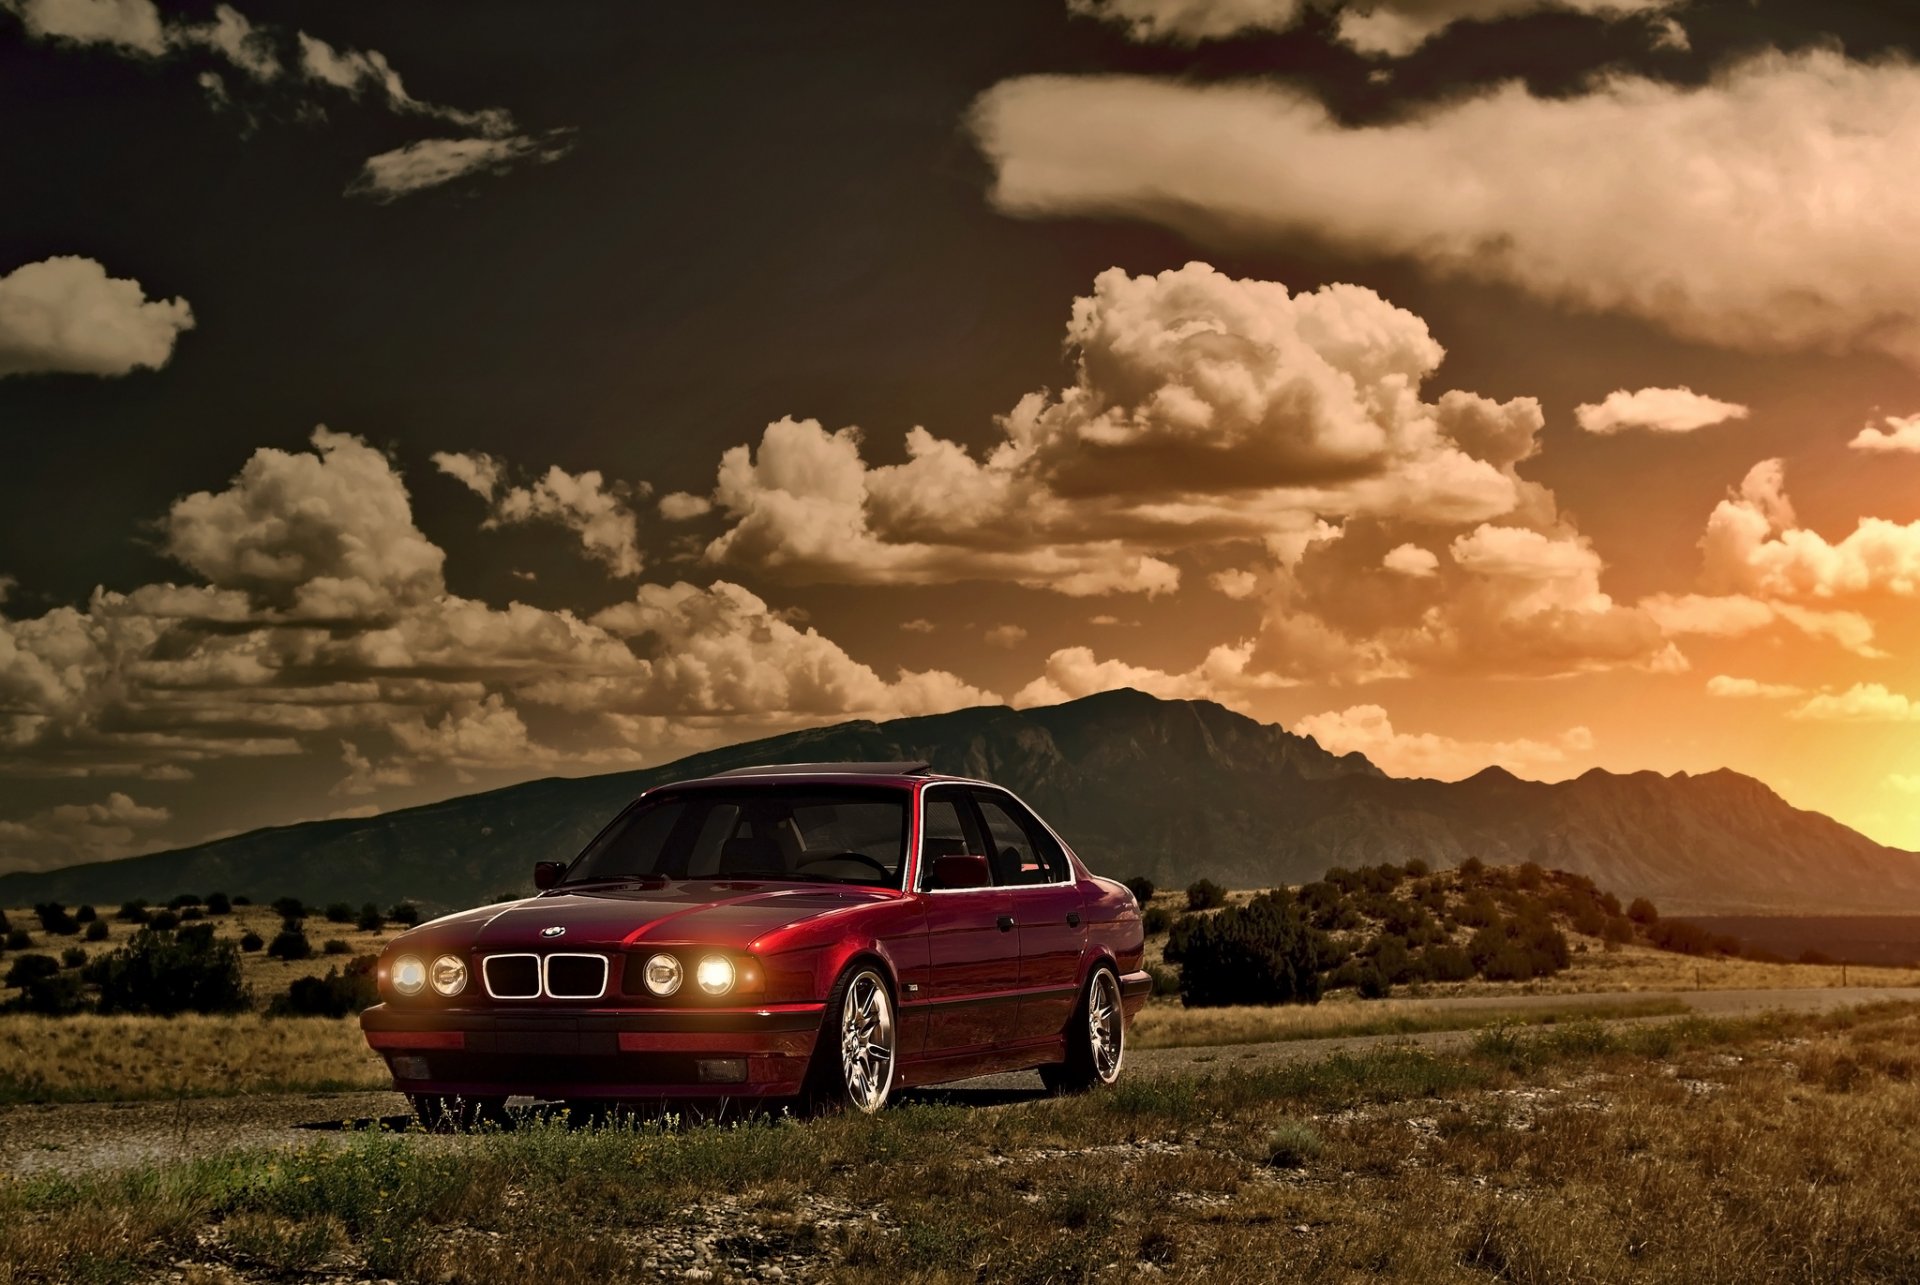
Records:
<instances>
[{"instance_id":1,"label":"dark mountain range on the horizon behind the red car","mask_svg":"<svg viewBox=\"0 0 1920 1285\"><path fill-rule=\"evenodd\" d=\"M451 907L526 887L637 791L749 763L927 759L1031 801L1102 874L1271 887L1329 866L1538 861L1674 912L1920 909L1920 857L1789 807L1736 772L1398 780L1361 755L1208 701L1108 691L1044 709L847 722L643 772L541 780L384 816L0 878L0 905L223 889Z\"/></svg>"}]
</instances>

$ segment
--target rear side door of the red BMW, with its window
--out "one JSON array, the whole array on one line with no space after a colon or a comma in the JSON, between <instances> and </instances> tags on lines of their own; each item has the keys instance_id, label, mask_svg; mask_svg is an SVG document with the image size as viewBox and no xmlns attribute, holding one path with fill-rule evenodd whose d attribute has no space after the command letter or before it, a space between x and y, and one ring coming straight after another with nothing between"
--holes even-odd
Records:
<instances>
[{"instance_id":1,"label":"rear side door of the red BMW, with its window","mask_svg":"<svg viewBox=\"0 0 1920 1285\"><path fill-rule=\"evenodd\" d=\"M1079 964L1087 949L1081 889L1046 826L1000 789L975 789L993 847L995 878L1008 887L1014 935L1020 937L1020 1008L1014 1039L1058 1035L1079 1001Z\"/></svg>"}]
</instances>

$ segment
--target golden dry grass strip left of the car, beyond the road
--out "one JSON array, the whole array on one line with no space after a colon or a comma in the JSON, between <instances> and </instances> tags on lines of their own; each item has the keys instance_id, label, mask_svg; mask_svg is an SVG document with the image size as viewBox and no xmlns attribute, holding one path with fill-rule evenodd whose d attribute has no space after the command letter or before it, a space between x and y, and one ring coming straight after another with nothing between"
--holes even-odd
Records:
<instances>
[{"instance_id":1,"label":"golden dry grass strip left of the car, beyond the road","mask_svg":"<svg viewBox=\"0 0 1920 1285\"><path fill-rule=\"evenodd\" d=\"M0 1103L384 1089L353 1018L0 1016Z\"/></svg>"}]
</instances>

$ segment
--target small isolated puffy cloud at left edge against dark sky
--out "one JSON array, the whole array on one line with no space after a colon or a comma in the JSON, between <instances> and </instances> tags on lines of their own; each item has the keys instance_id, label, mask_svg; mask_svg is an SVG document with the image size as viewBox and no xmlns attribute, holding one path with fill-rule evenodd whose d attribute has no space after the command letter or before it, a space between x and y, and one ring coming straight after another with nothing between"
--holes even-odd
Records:
<instances>
[{"instance_id":1,"label":"small isolated puffy cloud at left edge against dark sky","mask_svg":"<svg viewBox=\"0 0 1920 1285\"><path fill-rule=\"evenodd\" d=\"M0 378L157 371L192 328L186 300L150 300L94 259L56 255L0 277Z\"/></svg>"}]
</instances>

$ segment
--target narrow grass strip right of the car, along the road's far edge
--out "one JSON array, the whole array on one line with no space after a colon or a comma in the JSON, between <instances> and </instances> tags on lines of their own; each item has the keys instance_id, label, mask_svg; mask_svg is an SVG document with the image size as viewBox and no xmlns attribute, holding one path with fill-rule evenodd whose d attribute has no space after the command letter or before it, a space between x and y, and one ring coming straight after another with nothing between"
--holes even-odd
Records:
<instances>
[{"instance_id":1,"label":"narrow grass strip right of the car, along the road's far edge","mask_svg":"<svg viewBox=\"0 0 1920 1285\"><path fill-rule=\"evenodd\" d=\"M1647 997L1620 1003L1567 1003L1517 1006L1484 1003L1434 1003L1432 999L1356 999L1338 993L1319 1005L1183 1008L1177 999L1150 1001L1127 1041L1135 1049L1190 1049L1198 1045L1252 1045L1273 1039L1332 1039L1336 1035L1413 1035L1417 1031L1465 1031L1482 1026L1551 1026L1574 1020L1676 1016L1688 1006L1676 999Z\"/></svg>"}]
</instances>

